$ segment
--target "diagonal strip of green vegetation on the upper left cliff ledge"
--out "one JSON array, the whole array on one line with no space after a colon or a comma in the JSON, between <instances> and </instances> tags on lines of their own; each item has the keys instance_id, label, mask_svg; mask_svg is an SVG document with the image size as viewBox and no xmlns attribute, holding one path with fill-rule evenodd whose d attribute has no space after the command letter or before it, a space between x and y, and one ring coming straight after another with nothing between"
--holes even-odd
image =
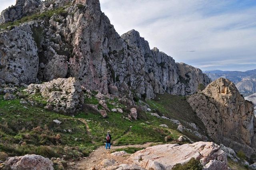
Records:
<instances>
[{"instance_id":1,"label":"diagonal strip of green vegetation on the upper left cliff ledge","mask_svg":"<svg viewBox=\"0 0 256 170\"><path fill-rule=\"evenodd\" d=\"M65 11L65 9L68 6L69 5L67 5L65 7L60 7L60 8L54 9L54 10L48 10L48 11L45 11L42 13L32 14L30 16L24 16L20 20L15 20L14 22L8 22L6 24L0 25L0 29L7 29L10 26L10 30L12 30L12 28L14 28L14 26L18 26L19 24L22 24L25 22L30 22L33 20L38 20L38 19L51 18L51 16L53 16L54 14L59 14L61 16L67 16L68 13Z\"/></svg>"}]
</instances>

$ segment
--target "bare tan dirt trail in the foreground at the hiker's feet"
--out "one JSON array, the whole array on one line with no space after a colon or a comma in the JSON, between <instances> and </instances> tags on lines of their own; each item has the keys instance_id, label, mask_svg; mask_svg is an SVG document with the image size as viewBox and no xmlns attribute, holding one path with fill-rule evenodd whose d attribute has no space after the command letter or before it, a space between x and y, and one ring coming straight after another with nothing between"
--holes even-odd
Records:
<instances>
[{"instance_id":1,"label":"bare tan dirt trail in the foreground at the hiker's feet","mask_svg":"<svg viewBox=\"0 0 256 170\"><path fill-rule=\"evenodd\" d=\"M119 148L135 147L135 148L147 148L152 143L138 144L138 145L124 145L124 146L112 146L111 149L106 150L104 146L99 147L90 156L83 158L82 160L75 162L76 165L71 166L69 164L68 170L100 170L102 169L102 161L104 159L114 159L116 164L128 163L126 156L112 156L111 151ZM95 169L93 169L95 168Z\"/></svg>"}]
</instances>

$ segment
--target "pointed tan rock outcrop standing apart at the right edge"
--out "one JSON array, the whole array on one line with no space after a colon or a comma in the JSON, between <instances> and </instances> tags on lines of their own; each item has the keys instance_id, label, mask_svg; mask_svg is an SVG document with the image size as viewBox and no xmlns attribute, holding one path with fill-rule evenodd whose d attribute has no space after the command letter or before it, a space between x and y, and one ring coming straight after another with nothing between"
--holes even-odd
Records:
<instances>
[{"instance_id":1,"label":"pointed tan rock outcrop standing apart at the right edge","mask_svg":"<svg viewBox=\"0 0 256 170\"><path fill-rule=\"evenodd\" d=\"M254 153L253 105L244 100L234 83L219 78L190 96L188 102L216 142L236 152L243 150L249 157Z\"/></svg>"}]
</instances>

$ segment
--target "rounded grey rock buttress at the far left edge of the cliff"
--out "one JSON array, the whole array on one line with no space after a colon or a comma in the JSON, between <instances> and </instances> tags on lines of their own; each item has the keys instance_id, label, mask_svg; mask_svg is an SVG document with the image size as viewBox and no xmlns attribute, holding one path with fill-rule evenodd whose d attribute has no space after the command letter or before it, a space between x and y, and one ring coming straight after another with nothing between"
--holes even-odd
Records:
<instances>
[{"instance_id":1,"label":"rounded grey rock buttress at the far left edge of the cliff","mask_svg":"<svg viewBox=\"0 0 256 170\"><path fill-rule=\"evenodd\" d=\"M38 53L28 24L0 32L0 79L6 83L31 83L38 73Z\"/></svg>"}]
</instances>

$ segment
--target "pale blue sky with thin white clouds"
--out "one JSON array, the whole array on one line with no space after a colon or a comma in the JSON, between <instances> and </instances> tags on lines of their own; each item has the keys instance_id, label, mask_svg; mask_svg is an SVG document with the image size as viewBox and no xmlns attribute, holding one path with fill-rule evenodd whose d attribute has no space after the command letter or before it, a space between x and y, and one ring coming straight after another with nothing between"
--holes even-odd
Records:
<instances>
[{"instance_id":1,"label":"pale blue sky with thin white clouds","mask_svg":"<svg viewBox=\"0 0 256 170\"><path fill-rule=\"evenodd\" d=\"M0 10L15 0L0 0ZM202 70L256 69L256 0L100 0L121 35Z\"/></svg>"}]
</instances>

